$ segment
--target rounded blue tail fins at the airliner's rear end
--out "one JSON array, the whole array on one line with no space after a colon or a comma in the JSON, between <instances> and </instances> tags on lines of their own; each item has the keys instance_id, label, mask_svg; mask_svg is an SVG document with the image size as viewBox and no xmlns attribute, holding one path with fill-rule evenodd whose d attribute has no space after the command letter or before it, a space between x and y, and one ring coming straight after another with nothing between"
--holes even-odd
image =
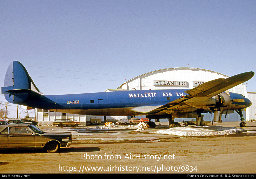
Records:
<instances>
[{"instance_id":1,"label":"rounded blue tail fins at the airliner's rear end","mask_svg":"<svg viewBox=\"0 0 256 179\"><path fill-rule=\"evenodd\" d=\"M9 103L21 104L29 96L40 96L42 93L28 75L25 67L18 61L13 61L5 74L2 94Z\"/></svg>"}]
</instances>

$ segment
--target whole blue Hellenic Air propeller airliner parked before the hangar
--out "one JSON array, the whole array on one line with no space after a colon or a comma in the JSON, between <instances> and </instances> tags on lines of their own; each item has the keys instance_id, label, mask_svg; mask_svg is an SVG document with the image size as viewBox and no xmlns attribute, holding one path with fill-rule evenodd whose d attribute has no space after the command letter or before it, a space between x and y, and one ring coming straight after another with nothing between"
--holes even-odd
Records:
<instances>
[{"instance_id":1,"label":"whole blue Hellenic Air propeller airliner parked before the hangar","mask_svg":"<svg viewBox=\"0 0 256 179\"><path fill-rule=\"evenodd\" d=\"M202 125L202 113L214 113L214 121L221 122L221 114L234 110L245 127L242 109L251 106L251 101L228 89L251 79L254 72L241 73L227 79L216 79L193 89L157 89L117 91L67 95L44 95L34 84L25 67L13 61L6 72L2 94L9 103L51 110L56 112L92 116L138 116L169 119L169 127L179 127L175 118L196 118ZM153 121L148 127L155 127Z\"/></svg>"}]
</instances>

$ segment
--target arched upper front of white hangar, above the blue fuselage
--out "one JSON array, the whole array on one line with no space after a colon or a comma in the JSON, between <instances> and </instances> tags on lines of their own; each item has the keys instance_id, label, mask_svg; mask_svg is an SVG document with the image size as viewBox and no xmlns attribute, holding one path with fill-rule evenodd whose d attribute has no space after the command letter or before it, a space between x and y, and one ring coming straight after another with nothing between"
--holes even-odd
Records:
<instances>
[{"instance_id":1,"label":"arched upper front of white hangar, above the blue fuselage","mask_svg":"<svg viewBox=\"0 0 256 179\"><path fill-rule=\"evenodd\" d=\"M187 89L194 88L210 80L228 77L227 75L201 68L165 68L128 80L119 86L117 90ZM229 91L245 95L246 85L240 84Z\"/></svg>"}]
</instances>

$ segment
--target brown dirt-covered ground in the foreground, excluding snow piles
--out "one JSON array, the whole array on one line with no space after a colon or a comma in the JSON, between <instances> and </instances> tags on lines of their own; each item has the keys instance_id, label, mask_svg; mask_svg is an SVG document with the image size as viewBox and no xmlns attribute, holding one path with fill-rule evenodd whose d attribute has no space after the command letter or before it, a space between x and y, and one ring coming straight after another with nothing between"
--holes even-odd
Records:
<instances>
[{"instance_id":1,"label":"brown dirt-covered ground in the foreground, excluding snow piles","mask_svg":"<svg viewBox=\"0 0 256 179\"><path fill-rule=\"evenodd\" d=\"M239 127L239 122L214 123ZM247 132L214 137L152 134L159 129L89 131L72 134L59 153L0 150L1 173L256 173L256 122ZM44 131L80 127L41 127ZM167 124L162 127L167 129Z\"/></svg>"}]
</instances>

